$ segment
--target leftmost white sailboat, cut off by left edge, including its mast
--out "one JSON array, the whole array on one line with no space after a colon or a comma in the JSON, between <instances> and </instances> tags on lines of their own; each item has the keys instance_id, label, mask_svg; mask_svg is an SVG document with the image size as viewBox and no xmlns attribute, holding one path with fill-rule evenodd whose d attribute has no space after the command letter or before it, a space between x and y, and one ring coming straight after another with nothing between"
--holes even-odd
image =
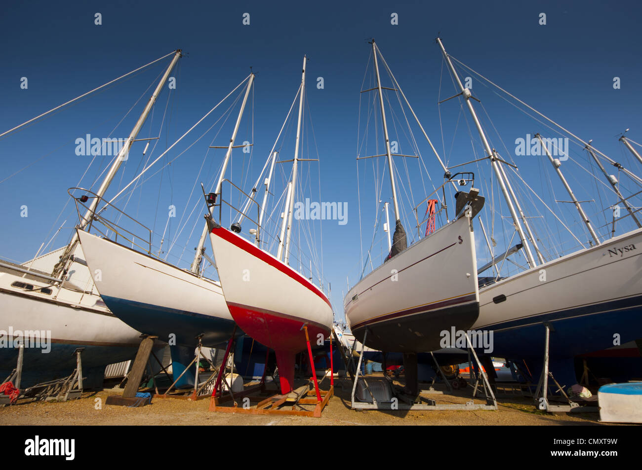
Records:
<instances>
[{"instance_id":1,"label":"leftmost white sailboat, cut off by left edge, including its mast","mask_svg":"<svg viewBox=\"0 0 642 470\"><path fill-rule=\"evenodd\" d=\"M125 160L124 156L181 57L181 51L179 49L163 58L167 56L173 56L171 63L97 194L105 193L119 165ZM81 233L89 223L90 214L88 211L81 219L78 226ZM106 365L135 355L141 333L109 310L89 276L84 257L78 236L74 233L69 245L37 256L24 265L0 262L0 330L8 337L11 346L17 346L18 342L24 344L21 387L69 374L76 366L73 353L77 348L83 348L83 376L87 374L85 387L101 384ZM9 337L10 332L12 337ZM42 338L42 335L48 338ZM37 340L37 347L33 347L33 339ZM49 346L45 348L46 343ZM0 348L0 373L3 376L11 372L17 357L17 349Z\"/></svg>"}]
</instances>

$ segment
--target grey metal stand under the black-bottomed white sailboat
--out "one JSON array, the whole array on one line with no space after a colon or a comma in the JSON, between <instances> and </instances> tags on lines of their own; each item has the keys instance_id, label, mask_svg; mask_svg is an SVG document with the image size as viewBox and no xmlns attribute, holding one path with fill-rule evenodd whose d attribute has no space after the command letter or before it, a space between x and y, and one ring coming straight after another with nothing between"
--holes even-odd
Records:
<instances>
[{"instance_id":1,"label":"grey metal stand under the black-bottomed white sailboat","mask_svg":"<svg viewBox=\"0 0 642 470\"><path fill-rule=\"evenodd\" d=\"M351 408L354 410L404 410L404 411L431 411L431 410L497 410L497 400L494 396L494 393L492 392L492 389L490 388L490 383L488 382L488 377L486 376L486 373L482 367L482 364L480 363L479 358L477 357L473 345L471 344L471 340L468 337L468 334L465 333L466 337L466 342L469 347L469 351L471 351L474 360L476 362L476 365L478 367L478 377L476 380L476 383L474 385L474 391L473 391L473 398L476 395L478 386L480 385L480 380L482 381L482 387L485 392L485 399L486 403L474 403L474 400L471 399L467 401L465 404L447 404L447 405L439 405L435 402L433 399L429 398L424 398L421 396L422 393L430 393L431 390L420 390L419 394L417 394L416 397L411 397L403 392L401 390L395 389L396 387L393 386L392 380L386 376L384 373L383 376L383 385L385 387L390 387L390 389L393 391L392 398L387 400L387 401L377 401L375 397L375 393L377 390L375 389L375 393L372 392L373 388L370 387L368 382L365 380L365 377L361 378L359 377L359 374L361 373L361 361L363 360L363 349L365 348L365 341L368 337L368 329L366 328L365 332L363 333L363 341L361 342L361 354L359 355L359 362L356 367L356 374L354 376L354 382L352 384L352 396L351 396ZM436 363L436 361L435 361ZM380 380L370 378L369 379L371 382L379 382L381 383ZM370 394L370 398L372 401L358 401L355 399L355 394L356 394L356 389L357 389L357 384L361 381L363 383L363 387L365 387L365 390ZM373 384L374 385L374 384ZM381 389L379 389L381 390ZM394 393L396 392L396 393ZM381 398L381 397L380 397Z\"/></svg>"}]
</instances>

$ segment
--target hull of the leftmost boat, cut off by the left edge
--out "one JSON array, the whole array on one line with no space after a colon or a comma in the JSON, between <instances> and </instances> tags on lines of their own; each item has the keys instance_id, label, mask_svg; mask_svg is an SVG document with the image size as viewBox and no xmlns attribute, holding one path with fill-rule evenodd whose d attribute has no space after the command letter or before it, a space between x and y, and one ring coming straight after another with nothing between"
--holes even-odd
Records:
<instances>
[{"instance_id":1,"label":"hull of the leftmost boat, cut off by the left edge","mask_svg":"<svg viewBox=\"0 0 642 470\"><path fill-rule=\"evenodd\" d=\"M51 294L17 289L11 285L15 281L35 289L47 287ZM17 364L14 340L28 341L22 365L23 389L69 375L76 367L76 348L85 348L83 374L90 376L85 386L100 386L105 366L133 359L140 343L140 333L111 314L96 294L25 280L10 273L0 274L0 330L4 343L0 348L3 379Z\"/></svg>"}]
</instances>

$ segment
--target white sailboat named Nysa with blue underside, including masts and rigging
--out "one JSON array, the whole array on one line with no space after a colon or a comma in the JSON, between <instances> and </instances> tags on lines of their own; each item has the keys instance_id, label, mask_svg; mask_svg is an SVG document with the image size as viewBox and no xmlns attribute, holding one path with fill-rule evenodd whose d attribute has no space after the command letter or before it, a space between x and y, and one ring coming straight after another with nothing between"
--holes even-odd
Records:
<instances>
[{"instance_id":1,"label":"white sailboat named Nysa with blue underside, including masts and rigging","mask_svg":"<svg viewBox=\"0 0 642 470\"><path fill-rule=\"evenodd\" d=\"M525 271L507 278L499 278L498 274L480 289L480 315L473 329L493 332L492 355L526 365L535 381L544 368L544 345L548 344L550 371L562 385L572 385L577 382L573 357L642 337L642 228L636 218L636 211L629 205L627 198L621 195L614 178L605 171L596 155L598 151L591 146L590 141L584 142L526 105L586 146L587 153L611 183L614 193L618 196L618 202L627 208L627 216L638 226L637 229L618 237L600 240L580 201L564 178L560 169L561 162L551 156L550 150L538 134L536 137L544 151L542 155L546 155L553 165L571 197L569 202L577 208L580 219L586 224L593 239L592 246L546 262L537 248L527 218L510 187L510 181L503 169L504 164L496 151L490 147L477 118L471 102L471 92L460 81L440 38L437 38L437 44L455 79L456 87L461 91L465 106L473 117L483 143L485 158L490 160L507 202L520 239L516 248L525 253L528 262L528 269ZM606 155L600 155L612 164L619 165ZM623 169L621 165L619 167L635 181L642 183L638 176ZM614 217L614 223L615 220ZM535 248L538 260L535 260L531 245ZM505 256L507 255L503 254L498 258ZM491 262L485 265L480 268L479 273L494 264ZM545 339L547 326L550 343Z\"/></svg>"}]
</instances>

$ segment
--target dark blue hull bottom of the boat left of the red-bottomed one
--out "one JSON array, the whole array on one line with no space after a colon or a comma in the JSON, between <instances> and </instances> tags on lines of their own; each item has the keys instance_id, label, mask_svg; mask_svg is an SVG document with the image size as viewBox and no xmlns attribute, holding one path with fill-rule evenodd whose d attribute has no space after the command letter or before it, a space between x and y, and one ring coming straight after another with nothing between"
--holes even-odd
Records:
<instances>
[{"instance_id":1,"label":"dark blue hull bottom of the boat left of the red-bottomed one","mask_svg":"<svg viewBox=\"0 0 642 470\"><path fill-rule=\"evenodd\" d=\"M174 338L178 346L196 347L197 337L202 334L203 346L225 348L225 342L230 339L234 330L235 323L232 319L114 297L102 298L109 310L132 328L147 335L157 336L166 342ZM239 328L236 329L236 333L243 334Z\"/></svg>"}]
</instances>

